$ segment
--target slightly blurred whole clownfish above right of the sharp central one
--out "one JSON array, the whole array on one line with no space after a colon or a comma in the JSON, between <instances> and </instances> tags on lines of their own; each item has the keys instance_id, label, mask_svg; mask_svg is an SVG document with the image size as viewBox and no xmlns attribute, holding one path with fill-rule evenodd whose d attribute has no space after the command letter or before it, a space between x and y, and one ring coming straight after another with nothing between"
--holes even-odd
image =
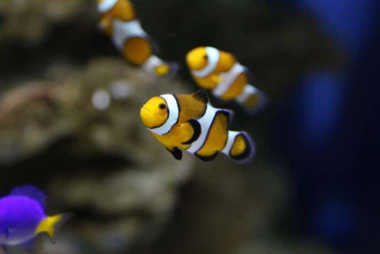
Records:
<instances>
[{"instance_id":1,"label":"slightly blurred whole clownfish above right of the sharp central one","mask_svg":"<svg viewBox=\"0 0 380 254\"><path fill-rule=\"evenodd\" d=\"M197 47L186 56L192 77L202 88L222 100L235 100L248 113L256 113L266 104L263 92L249 84L247 67L235 57L213 47Z\"/></svg>"}]
</instances>

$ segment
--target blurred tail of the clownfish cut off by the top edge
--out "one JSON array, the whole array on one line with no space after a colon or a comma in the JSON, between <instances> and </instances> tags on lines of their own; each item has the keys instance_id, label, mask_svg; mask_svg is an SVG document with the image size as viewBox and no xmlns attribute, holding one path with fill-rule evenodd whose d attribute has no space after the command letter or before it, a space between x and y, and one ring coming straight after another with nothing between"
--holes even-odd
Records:
<instances>
[{"instance_id":1,"label":"blurred tail of the clownfish cut off by the top edge","mask_svg":"<svg viewBox=\"0 0 380 254\"><path fill-rule=\"evenodd\" d=\"M155 55L152 55L143 65L143 68L150 74L160 78L173 77L179 65L175 62L166 62Z\"/></svg>"}]
</instances>

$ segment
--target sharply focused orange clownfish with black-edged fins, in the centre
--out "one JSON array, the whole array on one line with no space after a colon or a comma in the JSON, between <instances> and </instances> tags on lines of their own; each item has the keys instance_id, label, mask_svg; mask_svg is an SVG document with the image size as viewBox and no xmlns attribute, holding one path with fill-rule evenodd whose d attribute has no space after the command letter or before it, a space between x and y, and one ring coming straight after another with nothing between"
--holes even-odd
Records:
<instances>
[{"instance_id":1,"label":"sharply focused orange clownfish with black-edged fins, in the centre","mask_svg":"<svg viewBox=\"0 0 380 254\"><path fill-rule=\"evenodd\" d=\"M144 125L178 160L182 150L209 161L219 152L242 163L255 154L246 132L230 131L233 112L214 108L207 93L161 95L151 98L141 108Z\"/></svg>"}]
</instances>

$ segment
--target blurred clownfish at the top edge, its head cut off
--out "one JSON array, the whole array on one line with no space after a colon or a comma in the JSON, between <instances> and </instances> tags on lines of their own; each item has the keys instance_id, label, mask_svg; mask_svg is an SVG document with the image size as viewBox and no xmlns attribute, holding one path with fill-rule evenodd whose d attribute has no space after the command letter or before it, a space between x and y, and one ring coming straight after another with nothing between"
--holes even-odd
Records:
<instances>
[{"instance_id":1,"label":"blurred clownfish at the top edge, its head cut off","mask_svg":"<svg viewBox=\"0 0 380 254\"><path fill-rule=\"evenodd\" d=\"M101 14L100 29L112 37L125 59L158 77L170 77L176 73L177 64L155 55L158 47L136 19L129 0L97 0L97 10Z\"/></svg>"}]
</instances>

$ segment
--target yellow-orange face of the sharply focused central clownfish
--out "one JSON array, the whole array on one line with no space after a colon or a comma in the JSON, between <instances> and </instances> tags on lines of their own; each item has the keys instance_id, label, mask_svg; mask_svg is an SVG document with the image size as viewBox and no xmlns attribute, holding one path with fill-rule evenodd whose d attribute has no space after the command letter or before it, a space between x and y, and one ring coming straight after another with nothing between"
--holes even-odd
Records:
<instances>
[{"instance_id":1,"label":"yellow-orange face of the sharply focused central clownfish","mask_svg":"<svg viewBox=\"0 0 380 254\"><path fill-rule=\"evenodd\" d=\"M164 98L153 97L140 110L144 125L150 129L162 126L169 117L168 105Z\"/></svg>"}]
</instances>

